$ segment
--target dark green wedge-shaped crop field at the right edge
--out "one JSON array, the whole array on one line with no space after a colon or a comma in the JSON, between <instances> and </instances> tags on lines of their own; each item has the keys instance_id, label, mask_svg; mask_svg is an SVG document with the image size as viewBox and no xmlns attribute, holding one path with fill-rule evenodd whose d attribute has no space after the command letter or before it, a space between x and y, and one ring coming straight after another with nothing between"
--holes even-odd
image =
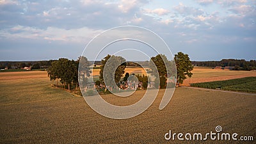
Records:
<instances>
[{"instance_id":1,"label":"dark green wedge-shaped crop field at the right edge","mask_svg":"<svg viewBox=\"0 0 256 144\"><path fill-rule=\"evenodd\" d=\"M256 93L256 77L243 77L240 79L229 79L225 81L212 81L205 83L192 83L191 86L199 88L220 88L221 90L231 90L239 92Z\"/></svg>"}]
</instances>

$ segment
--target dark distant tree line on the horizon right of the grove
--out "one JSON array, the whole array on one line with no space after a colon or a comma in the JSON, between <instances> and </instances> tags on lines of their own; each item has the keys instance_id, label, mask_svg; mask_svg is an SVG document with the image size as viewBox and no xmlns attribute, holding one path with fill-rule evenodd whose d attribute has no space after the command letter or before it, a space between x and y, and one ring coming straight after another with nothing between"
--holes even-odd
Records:
<instances>
[{"instance_id":1,"label":"dark distant tree line on the horizon right of the grove","mask_svg":"<svg viewBox=\"0 0 256 144\"><path fill-rule=\"evenodd\" d=\"M192 61L198 67L234 67L234 70L256 70L256 60L223 59L221 61Z\"/></svg>"}]
</instances>

